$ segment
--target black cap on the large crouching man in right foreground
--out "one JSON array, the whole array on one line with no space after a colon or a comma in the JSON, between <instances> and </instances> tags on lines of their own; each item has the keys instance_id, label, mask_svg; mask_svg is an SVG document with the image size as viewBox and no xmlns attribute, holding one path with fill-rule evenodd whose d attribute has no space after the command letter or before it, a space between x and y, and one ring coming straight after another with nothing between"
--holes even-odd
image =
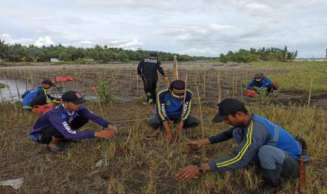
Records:
<instances>
[{"instance_id":1,"label":"black cap on the large crouching man in right foreground","mask_svg":"<svg viewBox=\"0 0 327 194\"><path fill-rule=\"evenodd\" d=\"M229 114L238 112L245 108L241 101L234 98L225 98L222 102L217 104L217 115L214 116L212 122L223 122Z\"/></svg>"}]
</instances>

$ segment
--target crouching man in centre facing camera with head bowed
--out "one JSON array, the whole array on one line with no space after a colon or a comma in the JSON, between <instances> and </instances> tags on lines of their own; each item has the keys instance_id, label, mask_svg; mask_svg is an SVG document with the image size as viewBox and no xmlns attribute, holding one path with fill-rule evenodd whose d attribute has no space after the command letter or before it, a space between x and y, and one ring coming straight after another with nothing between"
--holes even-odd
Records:
<instances>
[{"instance_id":1,"label":"crouching man in centre facing camera with head bowed","mask_svg":"<svg viewBox=\"0 0 327 194\"><path fill-rule=\"evenodd\" d=\"M190 115L191 101L192 92L189 90L185 92L185 82L179 79L175 80L170 84L169 89L164 89L158 93L155 114L148 119L148 125L153 129L163 126L167 141L172 141L173 134L169 129L169 121L179 124L177 136L183 127L197 127L200 124L198 118Z\"/></svg>"}]
</instances>

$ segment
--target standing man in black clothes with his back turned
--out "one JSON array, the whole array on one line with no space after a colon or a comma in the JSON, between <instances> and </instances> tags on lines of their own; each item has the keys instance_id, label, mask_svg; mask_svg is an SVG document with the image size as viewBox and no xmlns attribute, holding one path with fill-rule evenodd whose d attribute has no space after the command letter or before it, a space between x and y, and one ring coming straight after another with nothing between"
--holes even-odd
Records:
<instances>
[{"instance_id":1,"label":"standing man in black clothes with his back turned","mask_svg":"<svg viewBox=\"0 0 327 194\"><path fill-rule=\"evenodd\" d=\"M148 104L155 103L155 96L157 95L155 89L158 82L157 70L165 79L168 79L155 52L150 53L148 58L142 59L137 67L137 74L143 80L144 92L147 98L146 102Z\"/></svg>"}]
</instances>

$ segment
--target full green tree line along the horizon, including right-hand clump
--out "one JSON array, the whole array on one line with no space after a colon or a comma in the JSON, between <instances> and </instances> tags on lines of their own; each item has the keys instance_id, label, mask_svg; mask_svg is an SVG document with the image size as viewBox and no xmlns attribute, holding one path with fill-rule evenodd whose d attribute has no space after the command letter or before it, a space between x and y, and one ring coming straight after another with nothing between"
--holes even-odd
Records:
<instances>
[{"instance_id":1,"label":"full green tree line along the horizon, including right-hand clump","mask_svg":"<svg viewBox=\"0 0 327 194\"><path fill-rule=\"evenodd\" d=\"M138 49L137 51L123 48L111 48L108 46L96 45L92 48L82 48L74 46L24 46L22 44L6 44L0 39L0 58L8 58L9 62L49 62L51 58L58 58L63 61L74 61L76 63L110 63L138 61L146 56L150 51ZM297 56L297 51L290 52L285 46L281 48L250 48L250 50L240 49L236 52L229 51L221 53L219 57L188 56L179 53L158 52L161 61L172 61L177 56L181 62L186 61L207 61L222 63L237 62L250 63L259 60L293 61Z\"/></svg>"}]
</instances>

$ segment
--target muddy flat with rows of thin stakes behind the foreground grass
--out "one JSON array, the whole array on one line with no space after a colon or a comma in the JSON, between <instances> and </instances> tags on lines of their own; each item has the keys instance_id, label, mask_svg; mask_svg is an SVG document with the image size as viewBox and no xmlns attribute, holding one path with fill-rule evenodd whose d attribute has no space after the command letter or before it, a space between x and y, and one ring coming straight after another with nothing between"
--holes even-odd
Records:
<instances>
[{"instance_id":1,"label":"muddy flat with rows of thin stakes behind the foreground grass","mask_svg":"<svg viewBox=\"0 0 327 194\"><path fill-rule=\"evenodd\" d=\"M143 101L143 83L141 79L136 78L137 63L129 64L107 64L107 65L34 65L34 66L14 66L0 67L1 75L6 75L7 80L0 76L1 83L8 83L11 88L11 94L8 89L1 89L1 100L18 101L20 95L27 89L38 86L41 79L56 80L56 76L71 75L75 78L74 82L59 82L56 88L51 90L53 96L59 96L63 91L77 90L85 94L89 100L96 97L91 86L98 85L98 79L108 80L108 87L115 91L117 101ZM172 80L172 63L163 63L163 67ZM246 84L250 78L257 72L264 72L264 75L278 74L278 70L269 70L264 68L252 68L251 64L238 63L181 63L179 65L179 75L185 79L188 74L188 89L193 91L193 96L197 96L196 86L198 86L200 98L203 103L216 103L218 99L217 92L217 74L222 79L222 98L234 97L245 102L257 103L253 98L243 96ZM16 79L16 80L15 80ZM278 80L273 80L278 82ZM17 86L16 86L17 82ZM233 94L233 86L236 87ZM164 82L161 76L158 81L158 91L164 89ZM17 92L18 89L18 92ZM315 91L312 93L310 105L327 110L327 101L325 101L327 91ZM268 98L267 98L268 99ZM266 101L267 101L266 99ZM282 104L284 106L307 105L309 91L286 91L281 90L274 93L269 98L272 103Z\"/></svg>"}]
</instances>

